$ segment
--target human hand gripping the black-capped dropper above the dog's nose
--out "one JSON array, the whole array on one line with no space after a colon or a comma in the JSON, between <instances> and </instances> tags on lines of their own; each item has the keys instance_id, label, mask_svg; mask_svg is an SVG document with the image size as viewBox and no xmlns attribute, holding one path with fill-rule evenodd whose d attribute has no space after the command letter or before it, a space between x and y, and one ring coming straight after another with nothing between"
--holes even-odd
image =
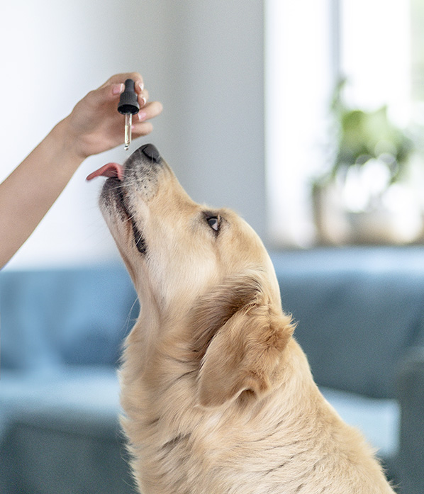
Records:
<instances>
[{"instance_id":1,"label":"human hand gripping the black-capped dropper above the dog's nose","mask_svg":"<svg viewBox=\"0 0 424 494\"><path fill-rule=\"evenodd\" d=\"M138 72L116 74L99 89L90 91L77 103L72 112L58 126L62 128L65 146L83 160L123 143L124 117L118 113L118 101L125 79L133 79L138 94L140 111L133 116L133 137L147 135L152 124L147 120L160 114L159 101L147 103L148 93Z\"/></svg>"}]
</instances>

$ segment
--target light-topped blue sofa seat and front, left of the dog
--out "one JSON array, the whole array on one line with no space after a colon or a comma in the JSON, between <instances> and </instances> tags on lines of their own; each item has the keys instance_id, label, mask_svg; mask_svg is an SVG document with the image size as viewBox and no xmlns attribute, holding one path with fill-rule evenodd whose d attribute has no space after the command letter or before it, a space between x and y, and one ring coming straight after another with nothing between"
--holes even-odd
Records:
<instances>
[{"instance_id":1,"label":"light-topped blue sofa seat and front, left of the dog","mask_svg":"<svg viewBox=\"0 0 424 494\"><path fill-rule=\"evenodd\" d=\"M114 369L4 371L0 386L2 493L133 492Z\"/></svg>"}]
</instances>

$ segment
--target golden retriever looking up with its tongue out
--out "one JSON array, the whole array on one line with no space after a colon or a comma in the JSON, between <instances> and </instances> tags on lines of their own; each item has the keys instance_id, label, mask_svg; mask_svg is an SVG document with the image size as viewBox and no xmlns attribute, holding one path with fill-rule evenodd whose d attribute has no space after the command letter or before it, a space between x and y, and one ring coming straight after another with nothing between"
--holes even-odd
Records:
<instances>
[{"instance_id":1,"label":"golden retriever looking up with its tongue out","mask_svg":"<svg viewBox=\"0 0 424 494\"><path fill-rule=\"evenodd\" d=\"M141 306L120 371L140 492L394 493L314 383L252 228L192 201L153 145L100 175Z\"/></svg>"}]
</instances>

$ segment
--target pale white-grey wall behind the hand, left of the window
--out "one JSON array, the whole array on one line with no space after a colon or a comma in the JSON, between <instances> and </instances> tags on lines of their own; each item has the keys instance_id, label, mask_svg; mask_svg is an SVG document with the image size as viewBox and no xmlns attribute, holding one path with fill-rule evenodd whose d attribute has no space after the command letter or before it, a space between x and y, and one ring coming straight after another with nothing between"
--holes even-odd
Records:
<instances>
[{"instance_id":1,"label":"pale white-grey wall behind the hand, left of the window","mask_svg":"<svg viewBox=\"0 0 424 494\"><path fill-rule=\"evenodd\" d=\"M154 142L196 201L235 208L264 237L262 4L1 2L0 180L87 91L138 70L164 111L131 149ZM101 181L84 178L126 156L121 147L87 159L9 269L116 259L96 206Z\"/></svg>"}]
</instances>

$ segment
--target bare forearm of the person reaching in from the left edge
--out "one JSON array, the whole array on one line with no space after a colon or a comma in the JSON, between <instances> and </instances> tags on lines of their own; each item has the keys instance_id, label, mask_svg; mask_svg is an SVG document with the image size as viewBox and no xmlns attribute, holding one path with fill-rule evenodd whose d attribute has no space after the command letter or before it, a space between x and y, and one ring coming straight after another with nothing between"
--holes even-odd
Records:
<instances>
[{"instance_id":1,"label":"bare forearm of the person reaching in from the left edge","mask_svg":"<svg viewBox=\"0 0 424 494\"><path fill-rule=\"evenodd\" d=\"M35 230L82 162L65 120L0 184L0 268Z\"/></svg>"}]
</instances>

